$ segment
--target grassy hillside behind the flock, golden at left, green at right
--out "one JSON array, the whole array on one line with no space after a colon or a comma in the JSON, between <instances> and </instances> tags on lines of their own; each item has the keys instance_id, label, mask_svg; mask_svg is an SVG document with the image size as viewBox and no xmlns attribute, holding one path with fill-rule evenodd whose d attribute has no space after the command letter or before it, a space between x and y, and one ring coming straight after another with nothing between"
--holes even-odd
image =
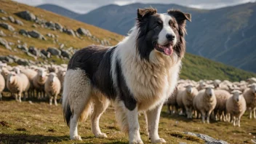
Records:
<instances>
[{"instance_id":1,"label":"grassy hillside behind the flock, golden at left, green at right","mask_svg":"<svg viewBox=\"0 0 256 144\"><path fill-rule=\"evenodd\" d=\"M31 55L28 55L32 51L29 50L29 52L25 53L24 50L18 49L17 46L26 43L28 47L33 46L39 50L47 50L48 47L56 47L57 50L68 51L72 54L76 51L76 49L81 49L82 47L86 47L89 44L114 45L123 38L123 36L119 34L105 31L101 28L97 28L86 23L81 23L76 20L71 20L68 17L56 15L43 9L29 7L25 4L18 4L14 1L1 0L0 2L0 9L3 9L5 12L7 12L7 14L0 13L0 17L12 16L16 20L21 20L24 23L24 25L17 25L15 23L11 23L9 20L0 19L0 22L8 23L15 28L15 31L8 31L0 27L0 31L3 31L7 35L0 38L6 39L12 43L10 44L12 50L6 49L0 44L0 55L17 55L18 57L39 61L41 63L68 63L68 59L63 58L63 55L51 56L49 58L41 57L40 55L34 55L32 57ZM22 18L15 15L16 12L21 12L24 10L32 12L34 15L36 15L36 17L39 17L38 19L41 21L45 20L48 24L45 22L42 24L36 24L38 21L23 20ZM59 23L63 25L63 31L67 31L67 29L76 30L77 28L86 28L90 33L92 33L92 36L77 36L77 33L75 36L72 36L68 35L66 32L46 27L49 25L49 21L53 20L53 23ZM27 31L36 30L45 37L45 40L23 36L19 34L20 29L25 29ZM53 34L55 37L49 37L49 33ZM64 47L62 47L63 45ZM183 70L181 73L182 79L229 79L231 81L239 81L241 79L247 79L249 77L256 76L255 73L242 71L237 68L215 63L212 60L207 60L205 58L190 54L185 55L183 63Z\"/></svg>"}]
</instances>

